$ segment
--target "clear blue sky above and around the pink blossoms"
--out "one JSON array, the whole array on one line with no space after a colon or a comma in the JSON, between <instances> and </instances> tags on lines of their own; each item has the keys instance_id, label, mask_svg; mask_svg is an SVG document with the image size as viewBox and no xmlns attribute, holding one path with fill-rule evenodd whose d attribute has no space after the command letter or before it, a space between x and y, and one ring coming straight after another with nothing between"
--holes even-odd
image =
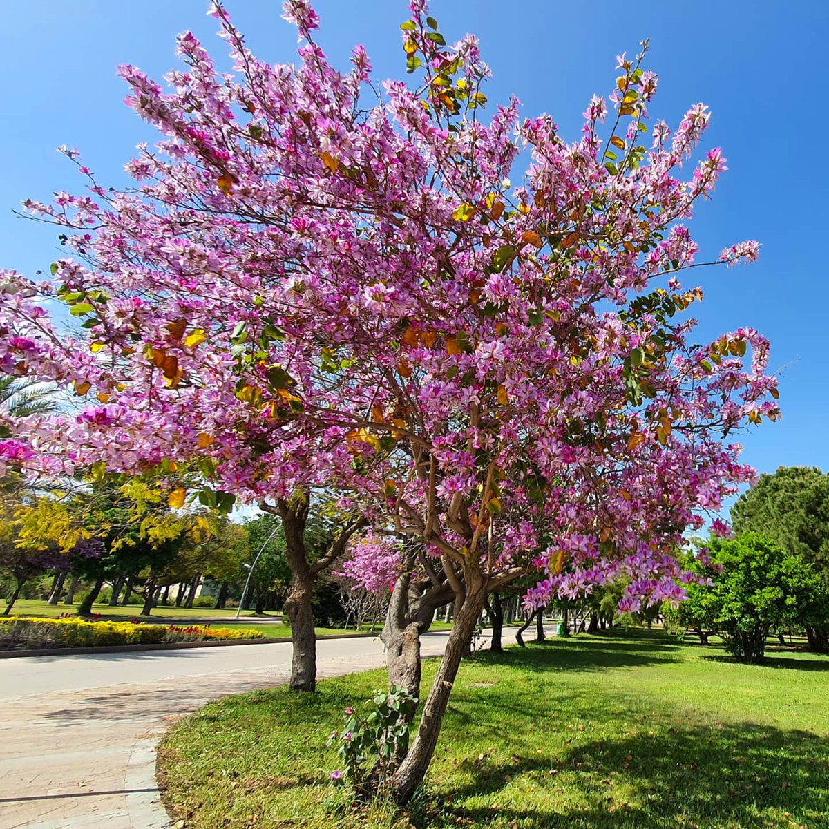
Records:
<instances>
[{"instance_id":1,"label":"clear blue sky above and around the pink blossoms","mask_svg":"<svg viewBox=\"0 0 829 829\"><path fill-rule=\"evenodd\" d=\"M227 0L250 47L269 61L292 61L296 35L277 0ZM31 196L80 187L74 167L55 152L80 148L110 185L152 133L128 110L115 66L132 63L161 80L175 65L177 32L191 29L216 56L224 44L206 0L27 0L3 9L0 52L0 265L27 274L56 256L56 231L12 216ZM400 76L398 26L404 0L318 0L318 41L346 66L364 44L376 77ZM651 39L649 67L660 76L652 115L674 125L689 104L704 101L713 118L705 142L720 145L730 170L714 201L692 223L703 255L733 241L763 243L758 264L696 271L705 302L698 342L749 325L772 342L781 371L783 420L744 435L744 459L764 472L808 464L829 471L827 332L829 288L823 245L829 133L825 104L826 0L696 0L634 3L557 0L434 0L448 41L475 32L492 67L491 101L515 93L526 114L548 112L565 138L577 138L590 95L607 93L615 56ZM817 143L817 148L812 147ZM688 279L689 287L691 277Z\"/></svg>"}]
</instances>

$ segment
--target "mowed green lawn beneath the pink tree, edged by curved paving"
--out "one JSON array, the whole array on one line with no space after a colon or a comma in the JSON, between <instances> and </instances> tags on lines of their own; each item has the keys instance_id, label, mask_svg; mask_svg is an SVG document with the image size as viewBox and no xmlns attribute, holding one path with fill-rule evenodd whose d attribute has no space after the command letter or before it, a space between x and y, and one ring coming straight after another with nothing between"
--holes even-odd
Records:
<instances>
[{"instance_id":1,"label":"mowed green lawn beneath the pink tree, edged by curved paving","mask_svg":"<svg viewBox=\"0 0 829 829\"><path fill-rule=\"evenodd\" d=\"M424 689L435 663L424 671ZM829 827L829 658L749 667L662 633L553 639L461 668L409 812L354 809L325 746L371 671L227 697L159 750L168 807L191 829Z\"/></svg>"}]
</instances>

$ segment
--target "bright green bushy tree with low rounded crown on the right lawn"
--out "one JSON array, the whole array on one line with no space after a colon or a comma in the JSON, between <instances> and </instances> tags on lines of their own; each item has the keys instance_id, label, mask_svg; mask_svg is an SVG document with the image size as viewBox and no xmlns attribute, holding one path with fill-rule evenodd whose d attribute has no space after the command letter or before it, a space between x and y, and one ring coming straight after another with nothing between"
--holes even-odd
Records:
<instances>
[{"instance_id":1,"label":"bright green bushy tree with low rounded crown on the right lawn","mask_svg":"<svg viewBox=\"0 0 829 829\"><path fill-rule=\"evenodd\" d=\"M689 565L710 584L688 585L679 623L710 629L740 662L762 662L773 628L827 623L827 588L800 555L766 536L712 539Z\"/></svg>"}]
</instances>

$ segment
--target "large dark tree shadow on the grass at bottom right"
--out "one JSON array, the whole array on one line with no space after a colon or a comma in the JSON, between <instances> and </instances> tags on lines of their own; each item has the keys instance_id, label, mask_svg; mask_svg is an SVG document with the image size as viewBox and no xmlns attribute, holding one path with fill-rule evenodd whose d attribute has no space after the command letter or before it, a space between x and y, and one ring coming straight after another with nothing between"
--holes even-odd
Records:
<instances>
[{"instance_id":1,"label":"large dark tree shadow on the grass at bottom right","mask_svg":"<svg viewBox=\"0 0 829 829\"><path fill-rule=\"evenodd\" d=\"M416 825L459 819L521 829L829 826L829 740L801 730L671 728L582 742L552 758L473 761L465 769L469 783L441 788L448 804ZM518 781L519 790L526 783L532 793L516 796L507 780Z\"/></svg>"}]
</instances>

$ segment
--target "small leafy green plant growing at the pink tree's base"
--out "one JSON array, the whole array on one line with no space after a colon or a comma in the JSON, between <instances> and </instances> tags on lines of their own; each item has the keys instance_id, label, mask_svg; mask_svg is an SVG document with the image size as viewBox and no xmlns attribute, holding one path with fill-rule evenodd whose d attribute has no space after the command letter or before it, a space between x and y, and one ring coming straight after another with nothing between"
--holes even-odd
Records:
<instances>
[{"instance_id":1,"label":"small leafy green plant growing at the pink tree's base","mask_svg":"<svg viewBox=\"0 0 829 829\"><path fill-rule=\"evenodd\" d=\"M342 769L331 773L332 780L348 780L359 792L373 778L372 789L384 789L409 749L409 723L417 704L417 697L393 686L390 691L375 692L364 706L365 715L347 708L342 730L328 738L328 745L339 744L337 754L342 759Z\"/></svg>"}]
</instances>

